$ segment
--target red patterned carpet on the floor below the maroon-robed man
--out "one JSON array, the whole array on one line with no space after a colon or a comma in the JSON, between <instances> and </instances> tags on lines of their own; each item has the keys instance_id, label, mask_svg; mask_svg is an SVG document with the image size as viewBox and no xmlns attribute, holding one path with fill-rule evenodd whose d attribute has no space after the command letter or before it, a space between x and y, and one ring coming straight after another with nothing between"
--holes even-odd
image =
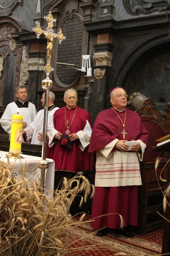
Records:
<instances>
[{"instance_id":1,"label":"red patterned carpet on the floor below the maroon-robed man","mask_svg":"<svg viewBox=\"0 0 170 256\"><path fill-rule=\"evenodd\" d=\"M93 245L95 250L87 251L84 249L82 252L76 252L76 256L157 256L161 255L162 251L162 237L163 229L159 229L140 236L135 233L134 238L126 238L118 233L111 231L106 236L99 237L93 232L90 227L90 216L86 214L83 223L79 228L75 229L77 237L81 238L86 236L79 246ZM78 218L75 218L75 222ZM96 250L98 247L100 249ZM83 249L83 248L82 248Z\"/></svg>"}]
</instances>

